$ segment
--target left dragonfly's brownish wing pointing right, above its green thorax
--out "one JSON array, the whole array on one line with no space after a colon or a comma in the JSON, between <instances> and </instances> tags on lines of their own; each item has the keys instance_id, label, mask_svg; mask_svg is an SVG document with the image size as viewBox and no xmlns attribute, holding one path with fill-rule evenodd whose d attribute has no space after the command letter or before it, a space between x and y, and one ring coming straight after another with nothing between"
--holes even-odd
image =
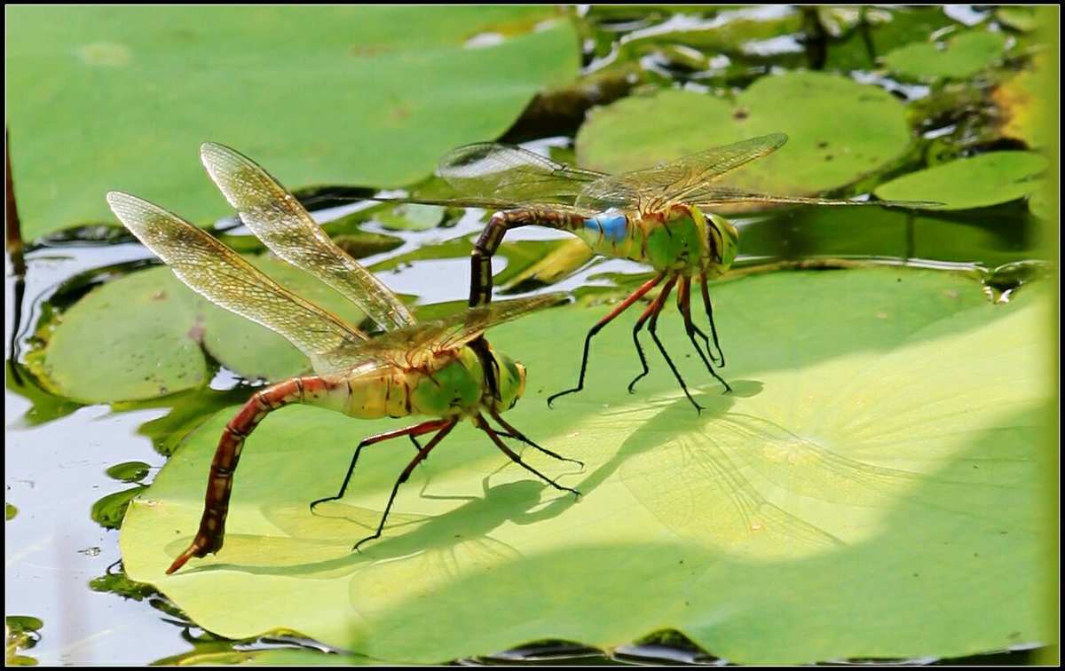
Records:
<instances>
[{"instance_id":1,"label":"left dragonfly's brownish wing pointing right, above its green thorax","mask_svg":"<svg viewBox=\"0 0 1065 671\"><path fill-rule=\"evenodd\" d=\"M568 300L563 294L545 294L493 302L453 314L443 320L425 322L413 327L384 333L360 346L359 351L363 355L371 354L403 364L421 353L456 349L493 326Z\"/></svg>"}]
</instances>

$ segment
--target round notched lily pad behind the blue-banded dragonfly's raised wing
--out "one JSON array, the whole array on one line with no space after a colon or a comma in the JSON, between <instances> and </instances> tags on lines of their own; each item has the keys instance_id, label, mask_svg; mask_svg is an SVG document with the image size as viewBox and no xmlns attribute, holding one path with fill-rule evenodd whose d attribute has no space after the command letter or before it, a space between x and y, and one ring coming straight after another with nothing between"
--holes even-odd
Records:
<instances>
[{"instance_id":1,"label":"round notched lily pad behind the blue-banded dragonfly's raised wing","mask_svg":"<svg viewBox=\"0 0 1065 671\"><path fill-rule=\"evenodd\" d=\"M832 191L891 163L911 142L905 109L884 89L788 72L759 79L735 102L687 91L625 98L589 115L577 157L621 173L774 132L787 133L788 144L730 174L730 183L787 195Z\"/></svg>"}]
</instances>

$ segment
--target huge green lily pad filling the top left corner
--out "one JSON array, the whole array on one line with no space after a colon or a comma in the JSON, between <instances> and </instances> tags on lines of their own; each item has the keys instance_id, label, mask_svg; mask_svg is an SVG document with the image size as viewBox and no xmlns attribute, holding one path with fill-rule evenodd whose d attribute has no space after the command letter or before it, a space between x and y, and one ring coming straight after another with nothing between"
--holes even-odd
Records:
<instances>
[{"instance_id":1,"label":"huge green lily pad filling the top left corner","mask_svg":"<svg viewBox=\"0 0 1065 671\"><path fill-rule=\"evenodd\" d=\"M111 220L113 189L194 222L227 213L197 160L207 140L294 187L405 185L579 66L552 7L21 6L6 19L27 239Z\"/></svg>"}]
</instances>

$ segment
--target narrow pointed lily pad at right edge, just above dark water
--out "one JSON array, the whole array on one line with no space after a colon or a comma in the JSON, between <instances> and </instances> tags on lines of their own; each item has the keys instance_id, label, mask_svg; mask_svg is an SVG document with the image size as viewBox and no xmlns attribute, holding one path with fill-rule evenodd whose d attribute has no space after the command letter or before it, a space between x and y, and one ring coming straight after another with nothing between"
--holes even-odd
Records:
<instances>
[{"instance_id":1,"label":"narrow pointed lily pad at right edge, just above dark water","mask_svg":"<svg viewBox=\"0 0 1065 671\"><path fill-rule=\"evenodd\" d=\"M904 175L878 186L878 198L935 200L941 210L1009 202L1043 189L1047 160L1030 151L992 151Z\"/></svg>"}]
</instances>

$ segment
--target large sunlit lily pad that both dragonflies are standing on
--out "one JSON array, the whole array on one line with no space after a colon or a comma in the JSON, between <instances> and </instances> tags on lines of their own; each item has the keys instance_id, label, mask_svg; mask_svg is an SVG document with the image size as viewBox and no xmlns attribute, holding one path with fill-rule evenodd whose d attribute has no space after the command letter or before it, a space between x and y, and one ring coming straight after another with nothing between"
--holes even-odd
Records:
<instances>
[{"instance_id":1,"label":"large sunlit lily pad that both dragonflies are standing on","mask_svg":"<svg viewBox=\"0 0 1065 671\"><path fill-rule=\"evenodd\" d=\"M650 341L654 370L625 392L635 313L601 333L586 390L553 410L545 396L575 381L579 343L608 307L492 331L529 370L508 421L586 467L525 457L579 501L462 425L402 489L384 536L351 554L411 445L368 448L345 498L314 514L308 503L335 492L360 438L408 421L289 408L246 444L225 547L165 576L233 408L130 506L127 571L210 631L294 629L388 661L544 638L611 648L662 628L748 664L1048 640L1045 295L992 305L969 279L904 268L752 276L712 295L734 393L701 367L672 309L660 325L702 414Z\"/></svg>"}]
</instances>

